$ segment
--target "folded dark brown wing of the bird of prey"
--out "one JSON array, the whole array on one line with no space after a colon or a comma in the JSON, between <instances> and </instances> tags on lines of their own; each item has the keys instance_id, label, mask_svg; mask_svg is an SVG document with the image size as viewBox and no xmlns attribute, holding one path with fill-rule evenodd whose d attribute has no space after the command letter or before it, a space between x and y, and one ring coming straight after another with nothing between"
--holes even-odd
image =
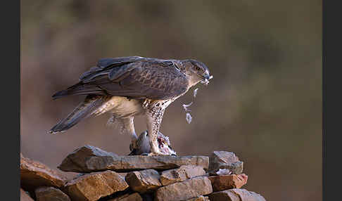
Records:
<instances>
[{"instance_id":1,"label":"folded dark brown wing of the bird of prey","mask_svg":"<svg viewBox=\"0 0 342 201\"><path fill-rule=\"evenodd\" d=\"M188 89L185 75L170 60L125 58L100 60L96 69L85 72L80 82L62 96L103 94L129 98L165 100L182 95ZM100 69L101 68L101 69Z\"/></svg>"}]
</instances>

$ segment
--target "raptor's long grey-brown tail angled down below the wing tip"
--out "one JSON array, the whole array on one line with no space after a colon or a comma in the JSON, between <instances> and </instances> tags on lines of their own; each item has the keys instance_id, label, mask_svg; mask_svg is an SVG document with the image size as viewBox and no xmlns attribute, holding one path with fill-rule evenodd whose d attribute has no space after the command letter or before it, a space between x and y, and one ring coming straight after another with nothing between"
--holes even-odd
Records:
<instances>
[{"instance_id":1,"label":"raptor's long grey-brown tail angled down below the wing tip","mask_svg":"<svg viewBox=\"0 0 342 201\"><path fill-rule=\"evenodd\" d=\"M85 100L73 110L68 117L54 126L49 134L58 134L75 126L80 120L87 118L107 100L106 96L88 95Z\"/></svg>"}]
</instances>

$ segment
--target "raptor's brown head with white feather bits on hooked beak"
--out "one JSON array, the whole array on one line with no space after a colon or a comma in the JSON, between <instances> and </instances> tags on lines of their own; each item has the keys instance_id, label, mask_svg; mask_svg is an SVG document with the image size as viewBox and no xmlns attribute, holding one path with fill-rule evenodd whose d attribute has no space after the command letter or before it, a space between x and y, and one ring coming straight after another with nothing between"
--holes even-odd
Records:
<instances>
[{"instance_id":1,"label":"raptor's brown head with white feather bits on hooked beak","mask_svg":"<svg viewBox=\"0 0 342 201\"><path fill-rule=\"evenodd\" d=\"M194 86L198 82L208 84L209 79L213 78L213 75L210 75L208 67L198 60L182 60L182 70L186 74L186 77L189 77L190 86Z\"/></svg>"}]
</instances>

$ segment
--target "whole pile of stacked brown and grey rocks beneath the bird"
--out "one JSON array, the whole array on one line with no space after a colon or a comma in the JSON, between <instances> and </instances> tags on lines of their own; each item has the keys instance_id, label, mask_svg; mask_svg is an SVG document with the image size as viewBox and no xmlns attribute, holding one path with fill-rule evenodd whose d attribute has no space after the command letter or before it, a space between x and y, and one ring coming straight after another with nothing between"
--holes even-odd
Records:
<instances>
[{"instance_id":1,"label":"whole pile of stacked brown and grey rocks beneath the bird","mask_svg":"<svg viewBox=\"0 0 342 201\"><path fill-rule=\"evenodd\" d=\"M85 145L65 157L58 169L80 174L68 180L20 155L21 200L265 201L241 189L248 179L243 162L225 151L210 157L119 156Z\"/></svg>"}]
</instances>

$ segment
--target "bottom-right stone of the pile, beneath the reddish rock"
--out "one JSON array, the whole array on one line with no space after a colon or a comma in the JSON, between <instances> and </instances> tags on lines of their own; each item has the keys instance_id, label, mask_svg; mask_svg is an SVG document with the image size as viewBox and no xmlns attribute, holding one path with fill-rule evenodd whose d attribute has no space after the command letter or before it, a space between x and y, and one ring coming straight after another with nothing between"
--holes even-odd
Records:
<instances>
[{"instance_id":1,"label":"bottom-right stone of the pile, beneath the reddish rock","mask_svg":"<svg viewBox=\"0 0 342 201\"><path fill-rule=\"evenodd\" d=\"M240 188L212 193L209 199L211 201L266 201L260 194Z\"/></svg>"}]
</instances>

